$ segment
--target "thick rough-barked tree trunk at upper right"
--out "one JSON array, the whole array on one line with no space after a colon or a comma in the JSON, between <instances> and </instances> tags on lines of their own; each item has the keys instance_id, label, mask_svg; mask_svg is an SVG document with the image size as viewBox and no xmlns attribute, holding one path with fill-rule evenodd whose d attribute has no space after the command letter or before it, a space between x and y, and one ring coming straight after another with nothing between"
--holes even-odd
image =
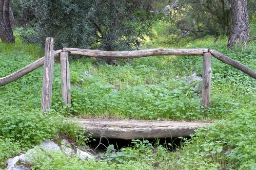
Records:
<instances>
[{"instance_id":1,"label":"thick rough-barked tree trunk at upper right","mask_svg":"<svg viewBox=\"0 0 256 170\"><path fill-rule=\"evenodd\" d=\"M232 0L232 30L229 35L228 49L233 46L246 48L249 40L247 0Z\"/></svg>"}]
</instances>

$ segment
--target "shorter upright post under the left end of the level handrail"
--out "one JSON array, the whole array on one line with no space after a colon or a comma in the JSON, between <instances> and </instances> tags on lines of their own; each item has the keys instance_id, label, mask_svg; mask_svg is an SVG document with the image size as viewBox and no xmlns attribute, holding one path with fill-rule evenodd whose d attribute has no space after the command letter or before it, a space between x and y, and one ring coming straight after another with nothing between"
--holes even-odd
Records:
<instances>
[{"instance_id":1,"label":"shorter upright post under the left end of the level handrail","mask_svg":"<svg viewBox=\"0 0 256 170\"><path fill-rule=\"evenodd\" d=\"M60 52L60 63L63 104L71 104L68 52Z\"/></svg>"}]
</instances>

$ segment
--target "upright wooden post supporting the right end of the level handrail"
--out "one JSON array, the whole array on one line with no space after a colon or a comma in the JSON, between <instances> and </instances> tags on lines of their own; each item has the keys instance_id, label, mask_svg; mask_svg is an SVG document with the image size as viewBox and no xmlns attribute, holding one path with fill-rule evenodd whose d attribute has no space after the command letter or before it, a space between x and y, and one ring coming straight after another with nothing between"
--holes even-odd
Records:
<instances>
[{"instance_id":1,"label":"upright wooden post supporting the right end of the level handrail","mask_svg":"<svg viewBox=\"0 0 256 170\"><path fill-rule=\"evenodd\" d=\"M210 105L211 78L212 78L211 53L204 52L203 53L203 87L202 87L202 104L204 108Z\"/></svg>"}]
</instances>

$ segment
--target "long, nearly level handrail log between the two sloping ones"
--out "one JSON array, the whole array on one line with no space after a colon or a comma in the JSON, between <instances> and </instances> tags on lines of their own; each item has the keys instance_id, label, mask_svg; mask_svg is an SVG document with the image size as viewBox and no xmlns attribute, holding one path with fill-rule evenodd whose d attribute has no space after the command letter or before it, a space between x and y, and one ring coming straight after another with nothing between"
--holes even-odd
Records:
<instances>
[{"instance_id":1,"label":"long, nearly level handrail log between the two sloping ones","mask_svg":"<svg viewBox=\"0 0 256 170\"><path fill-rule=\"evenodd\" d=\"M139 58L154 55L203 55L208 49L150 49L139 51L98 51L75 48L63 48L63 51L70 52L71 55L82 55L95 58Z\"/></svg>"}]
</instances>

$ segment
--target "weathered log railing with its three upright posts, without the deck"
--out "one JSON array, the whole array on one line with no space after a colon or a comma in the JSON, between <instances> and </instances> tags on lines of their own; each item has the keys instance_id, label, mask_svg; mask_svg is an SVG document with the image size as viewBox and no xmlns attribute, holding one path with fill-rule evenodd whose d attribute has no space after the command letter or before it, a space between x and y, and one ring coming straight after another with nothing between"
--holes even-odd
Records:
<instances>
[{"instance_id":1,"label":"weathered log railing with its three upright posts, without the deck","mask_svg":"<svg viewBox=\"0 0 256 170\"><path fill-rule=\"evenodd\" d=\"M84 50L75 48L63 48L63 50L53 50L53 38L46 38L45 56L30 65L21 68L20 70L10 74L6 77L0 78L0 86L11 83L29 72L44 65L43 85L42 85L42 102L41 109L43 111L50 109L51 93L52 93L52 76L54 59L60 57L61 63L61 89L62 100L64 104L71 104L70 94L70 72L68 54L80 55L94 58L139 58L157 55L202 55L203 56L203 74L202 74L202 104L204 108L210 104L211 94L211 56L213 55L218 60L225 64L231 65L249 76L256 79L256 72L246 66L238 63L222 53L212 49L150 49L139 51L99 51L99 50Z\"/></svg>"}]
</instances>

